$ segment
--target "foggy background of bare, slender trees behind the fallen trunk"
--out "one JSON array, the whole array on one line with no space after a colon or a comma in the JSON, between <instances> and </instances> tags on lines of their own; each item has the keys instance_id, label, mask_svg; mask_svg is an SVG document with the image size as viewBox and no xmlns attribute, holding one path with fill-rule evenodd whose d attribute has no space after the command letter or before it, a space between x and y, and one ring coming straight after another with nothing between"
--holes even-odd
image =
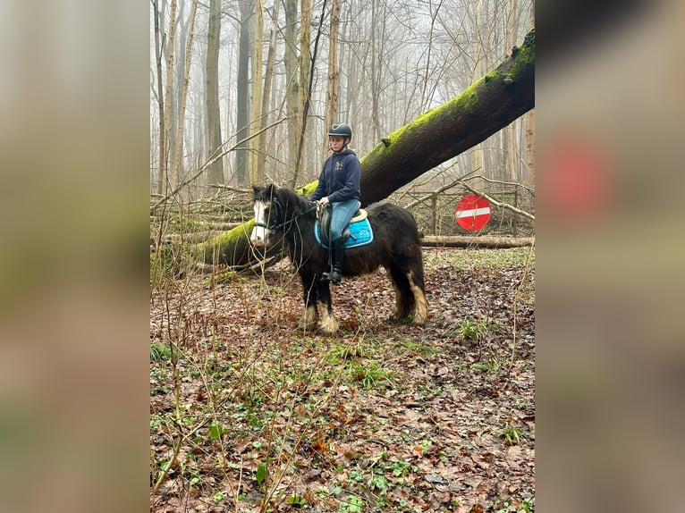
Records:
<instances>
[{"instance_id":1,"label":"foggy background of bare, slender trees behind the fallen trunk","mask_svg":"<svg viewBox=\"0 0 685 513\"><path fill-rule=\"evenodd\" d=\"M349 122L364 156L492 70L533 18L532 0L151 0L150 191L158 198L183 184L179 198L193 201L314 181L330 124ZM532 209L534 115L395 200L440 189L449 218L468 179Z\"/></svg>"}]
</instances>

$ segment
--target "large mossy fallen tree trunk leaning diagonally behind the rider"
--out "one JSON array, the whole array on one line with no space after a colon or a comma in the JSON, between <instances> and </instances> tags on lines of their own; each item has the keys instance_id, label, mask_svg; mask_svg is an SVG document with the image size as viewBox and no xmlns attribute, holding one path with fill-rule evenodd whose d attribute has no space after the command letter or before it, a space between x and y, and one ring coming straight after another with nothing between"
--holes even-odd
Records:
<instances>
[{"instance_id":1,"label":"large mossy fallen tree trunk leaning diagonally behind the rider","mask_svg":"<svg viewBox=\"0 0 685 513\"><path fill-rule=\"evenodd\" d=\"M471 84L459 97L394 131L362 157L362 205L387 198L424 172L502 130L534 105L535 29L532 29L524 44L494 71ZM309 183L299 192L309 195L316 185L316 181ZM249 245L253 223L250 220L199 245L200 255L206 262L247 264L254 258Z\"/></svg>"}]
</instances>

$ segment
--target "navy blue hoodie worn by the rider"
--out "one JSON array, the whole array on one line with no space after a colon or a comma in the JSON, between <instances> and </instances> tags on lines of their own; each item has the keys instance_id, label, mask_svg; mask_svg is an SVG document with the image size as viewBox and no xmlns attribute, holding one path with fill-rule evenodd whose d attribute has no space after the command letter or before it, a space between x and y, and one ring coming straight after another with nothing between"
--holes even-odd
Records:
<instances>
[{"instance_id":1,"label":"navy blue hoodie worn by the rider","mask_svg":"<svg viewBox=\"0 0 685 513\"><path fill-rule=\"evenodd\" d=\"M309 199L328 197L331 203L352 198L359 200L359 181L361 164L357 155L351 149L334 153L326 159L324 169L318 177L317 189L311 193Z\"/></svg>"}]
</instances>

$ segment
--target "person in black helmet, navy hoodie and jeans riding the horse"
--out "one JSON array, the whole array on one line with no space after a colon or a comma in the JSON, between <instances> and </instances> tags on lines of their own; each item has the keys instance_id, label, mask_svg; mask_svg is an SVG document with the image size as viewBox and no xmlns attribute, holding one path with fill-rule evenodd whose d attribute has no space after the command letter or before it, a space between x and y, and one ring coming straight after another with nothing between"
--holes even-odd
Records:
<instances>
[{"instance_id":1,"label":"person in black helmet, navy hoodie and jeans riding the horse","mask_svg":"<svg viewBox=\"0 0 685 513\"><path fill-rule=\"evenodd\" d=\"M323 282L340 283L342 262L345 259L345 241L342 231L347 227L352 216L359 210L361 203L361 164L357 155L347 146L352 139L352 129L345 122L334 123L328 130L328 147L333 150L324 163L318 177L317 189L309 199L318 201L319 205L331 204L331 235L329 250L333 269L323 273Z\"/></svg>"}]
</instances>

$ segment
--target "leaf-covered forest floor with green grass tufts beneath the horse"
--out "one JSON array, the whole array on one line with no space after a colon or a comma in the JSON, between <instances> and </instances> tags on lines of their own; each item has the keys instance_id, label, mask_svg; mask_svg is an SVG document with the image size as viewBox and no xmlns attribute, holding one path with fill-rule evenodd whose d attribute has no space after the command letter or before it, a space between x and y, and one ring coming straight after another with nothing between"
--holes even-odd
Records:
<instances>
[{"instance_id":1,"label":"leaf-covered forest floor with green grass tufts beneath the horse","mask_svg":"<svg viewBox=\"0 0 685 513\"><path fill-rule=\"evenodd\" d=\"M535 251L424 264L427 324L385 321L379 270L332 287L334 337L287 260L156 289L150 510L533 511Z\"/></svg>"}]
</instances>

